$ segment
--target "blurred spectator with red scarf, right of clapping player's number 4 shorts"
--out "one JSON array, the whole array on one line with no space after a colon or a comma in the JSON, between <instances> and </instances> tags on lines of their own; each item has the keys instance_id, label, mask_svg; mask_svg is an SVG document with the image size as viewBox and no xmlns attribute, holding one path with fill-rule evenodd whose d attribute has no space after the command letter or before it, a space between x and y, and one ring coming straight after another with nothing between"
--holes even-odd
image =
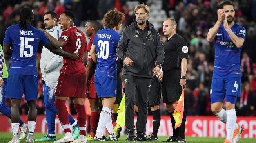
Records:
<instances>
[{"instance_id":1,"label":"blurred spectator with red scarf, right of clapping player's number 4 shorts","mask_svg":"<svg viewBox=\"0 0 256 143\"><path fill-rule=\"evenodd\" d=\"M236 107L240 110L240 116L250 116L255 109L255 96L250 89L249 82L242 86L241 98L237 101Z\"/></svg>"}]
</instances>

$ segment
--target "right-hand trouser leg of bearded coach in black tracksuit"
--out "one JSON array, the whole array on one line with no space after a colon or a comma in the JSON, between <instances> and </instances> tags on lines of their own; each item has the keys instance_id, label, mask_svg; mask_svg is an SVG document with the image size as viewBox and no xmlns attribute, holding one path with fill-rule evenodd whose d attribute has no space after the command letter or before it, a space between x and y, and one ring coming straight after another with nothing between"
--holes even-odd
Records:
<instances>
[{"instance_id":1,"label":"right-hand trouser leg of bearded coach in black tracksuit","mask_svg":"<svg viewBox=\"0 0 256 143\"><path fill-rule=\"evenodd\" d=\"M138 118L137 118L137 141L147 141L145 137L146 124L147 124L147 112L149 103L149 90L151 85L151 79L148 78L136 78L137 92L138 92Z\"/></svg>"}]
</instances>

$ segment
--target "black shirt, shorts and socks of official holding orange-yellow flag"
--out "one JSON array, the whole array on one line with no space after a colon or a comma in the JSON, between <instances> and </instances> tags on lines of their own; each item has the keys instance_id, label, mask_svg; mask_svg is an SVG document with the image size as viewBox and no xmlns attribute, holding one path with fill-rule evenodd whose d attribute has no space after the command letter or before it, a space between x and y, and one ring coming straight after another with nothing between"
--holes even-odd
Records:
<instances>
[{"instance_id":1,"label":"black shirt, shorts and socks of official holding orange-yellow flag","mask_svg":"<svg viewBox=\"0 0 256 143\"><path fill-rule=\"evenodd\" d=\"M187 42L178 34L174 34L169 40L165 41L163 47L165 51L165 59L163 62L162 95L163 103L168 104L178 101L182 94L182 87L180 86L181 60L183 58L188 59L189 55ZM173 138L185 138L185 122L182 120L184 125L174 129L175 120L172 113L170 113L170 116L172 129L174 131ZM186 120L184 116L183 119Z\"/></svg>"}]
</instances>

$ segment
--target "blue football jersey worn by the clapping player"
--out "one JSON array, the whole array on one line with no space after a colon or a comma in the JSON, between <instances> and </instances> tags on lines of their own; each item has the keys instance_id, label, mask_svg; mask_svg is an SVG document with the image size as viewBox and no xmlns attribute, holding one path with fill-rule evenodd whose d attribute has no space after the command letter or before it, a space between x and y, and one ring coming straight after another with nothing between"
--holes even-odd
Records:
<instances>
[{"instance_id":1,"label":"blue football jersey worn by the clapping player","mask_svg":"<svg viewBox=\"0 0 256 143\"><path fill-rule=\"evenodd\" d=\"M231 27L236 36L245 39L246 30L244 27L234 24ZM242 47L238 48L232 42L223 24L214 38L215 58L214 58L214 78L241 77L240 54Z\"/></svg>"}]
</instances>

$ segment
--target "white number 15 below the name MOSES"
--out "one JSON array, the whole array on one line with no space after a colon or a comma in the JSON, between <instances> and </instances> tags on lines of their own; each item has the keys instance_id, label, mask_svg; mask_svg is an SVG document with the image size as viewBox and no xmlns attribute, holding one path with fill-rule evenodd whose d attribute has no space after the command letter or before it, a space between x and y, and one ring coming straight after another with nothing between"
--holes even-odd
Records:
<instances>
[{"instance_id":1,"label":"white number 15 below the name MOSES","mask_svg":"<svg viewBox=\"0 0 256 143\"><path fill-rule=\"evenodd\" d=\"M24 39L25 39L25 43L24 43ZM34 38L20 37L20 57L23 57L24 55L25 57L32 57L33 46L29 45L29 41L34 41ZM24 51L24 48L28 48L29 53L28 51Z\"/></svg>"}]
</instances>

